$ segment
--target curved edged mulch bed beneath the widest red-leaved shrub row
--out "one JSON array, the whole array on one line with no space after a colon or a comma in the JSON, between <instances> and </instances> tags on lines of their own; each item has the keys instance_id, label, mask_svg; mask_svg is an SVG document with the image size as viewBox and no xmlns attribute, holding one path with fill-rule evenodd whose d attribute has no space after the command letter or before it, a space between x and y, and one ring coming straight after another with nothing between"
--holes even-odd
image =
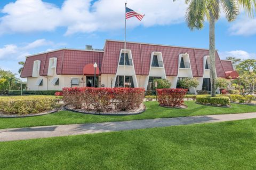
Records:
<instances>
[{"instance_id":1,"label":"curved edged mulch bed beneath the widest red-leaved shrub row","mask_svg":"<svg viewBox=\"0 0 256 170\"><path fill-rule=\"evenodd\" d=\"M142 112L144 112L146 110L146 106L145 104L141 103L140 107L134 110L127 110L127 111L108 111L108 112L96 112L96 111L92 111L92 110L85 110L85 109L74 109L73 107L71 107L70 105L66 104L64 107L66 110L69 111L74 111L74 112L79 112L82 114L90 114L90 115L108 115L108 116L128 116L128 115L138 115L138 114L142 114Z\"/></svg>"}]
</instances>

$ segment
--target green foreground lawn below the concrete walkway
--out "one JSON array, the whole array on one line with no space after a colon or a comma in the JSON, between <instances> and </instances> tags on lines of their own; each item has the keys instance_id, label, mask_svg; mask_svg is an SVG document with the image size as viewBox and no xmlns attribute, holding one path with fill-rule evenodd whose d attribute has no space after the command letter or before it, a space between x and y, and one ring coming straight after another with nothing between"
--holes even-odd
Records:
<instances>
[{"instance_id":1,"label":"green foreground lawn below the concrete walkway","mask_svg":"<svg viewBox=\"0 0 256 170\"><path fill-rule=\"evenodd\" d=\"M256 119L0 142L0 169L256 169Z\"/></svg>"}]
</instances>

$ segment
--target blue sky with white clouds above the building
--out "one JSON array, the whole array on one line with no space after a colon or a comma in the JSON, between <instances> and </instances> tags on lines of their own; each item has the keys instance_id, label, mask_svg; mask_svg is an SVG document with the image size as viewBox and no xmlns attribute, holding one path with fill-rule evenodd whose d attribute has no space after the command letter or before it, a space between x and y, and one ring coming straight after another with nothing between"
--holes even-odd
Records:
<instances>
[{"instance_id":1,"label":"blue sky with white clouds above the building","mask_svg":"<svg viewBox=\"0 0 256 170\"><path fill-rule=\"evenodd\" d=\"M121 0L5 0L0 1L0 68L17 73L25 56L57 48L103 48L105 39L124 39ZM127 41L188 47L209 47L209 23L191 31L182 0L129 0L127 6L146 14L127 20ZM256 19L243 12L234 22L221 14L216 47L222 59L256 58Z\"/></svg>"}]
</instances>

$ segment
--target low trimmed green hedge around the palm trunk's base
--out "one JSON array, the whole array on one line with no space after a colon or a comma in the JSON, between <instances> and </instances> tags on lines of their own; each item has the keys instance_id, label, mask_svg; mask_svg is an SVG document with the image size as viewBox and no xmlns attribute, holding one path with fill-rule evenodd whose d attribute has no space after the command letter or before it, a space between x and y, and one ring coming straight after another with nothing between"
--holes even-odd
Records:
<instances>
[{"instance_id":1,"label":"low trimmed green hedge around the palm trunk's base","mask_svg":"<svg viewBox=\"0 0 256 170\"><path fill-rule=\"evenodd\" d=\"M211 104L214 106L228 106L230 104L227 96L211 97L209 95L197 95L196 102L201 104Z\"/></svg>"}]
</instances>

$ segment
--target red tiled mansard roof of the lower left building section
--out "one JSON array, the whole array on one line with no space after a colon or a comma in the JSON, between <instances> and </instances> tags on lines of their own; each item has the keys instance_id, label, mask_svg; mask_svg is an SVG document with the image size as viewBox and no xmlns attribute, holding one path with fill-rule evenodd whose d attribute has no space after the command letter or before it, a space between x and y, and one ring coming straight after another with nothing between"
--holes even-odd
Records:
<instances>
[{"instance_id":1,"label":"red tiled mansard roof of the lower left building section","mask_svg":"<svg viewBox=\"0 0 256 170\"><path fill-rule=\"evenodd\" d=\"M86 64L97 62L101 66L103 52L61 49L43 54L28 56L20 77L31 77L35 60L41 60L40 76L47 76L50 58L57 58L58 75L83 75Z\"/></svg>"}]
</instances>

